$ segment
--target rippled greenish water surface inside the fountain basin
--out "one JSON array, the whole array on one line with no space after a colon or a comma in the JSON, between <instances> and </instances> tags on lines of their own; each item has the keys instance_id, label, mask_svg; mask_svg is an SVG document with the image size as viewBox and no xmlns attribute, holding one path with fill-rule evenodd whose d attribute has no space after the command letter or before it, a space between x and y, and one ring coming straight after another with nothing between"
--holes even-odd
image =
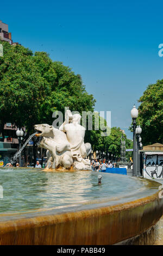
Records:
<instances>
[{"instance_id":1,"label":"rippled greenish water surface inside the fountain basin","mask_svg":"<svg viewBox=\"0 0 163 256\"><path fill-rule=\"evenodd\" d=\"M144 186L140 180L103 173L101 186L96 172L43 172L33 169L0 169L3 199L0 212L21 211L87 203L90 200L127 195Z\"/></svg>"}]
</instances>

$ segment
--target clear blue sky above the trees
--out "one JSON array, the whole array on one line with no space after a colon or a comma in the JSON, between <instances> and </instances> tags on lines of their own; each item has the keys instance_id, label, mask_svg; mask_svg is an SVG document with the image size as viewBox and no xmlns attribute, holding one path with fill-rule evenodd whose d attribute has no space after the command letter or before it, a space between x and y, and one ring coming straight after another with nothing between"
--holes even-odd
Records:
<instances>
[{"instance_id":1,"label":"clear blue sky above the trees","mask_svg":"<svg viewBox=\"0 0 163 256\"><path fill-rule=\"evenodd\" d=\"M0 20L13 41L82 75L95 110L111 111L111 126L132 138L130 109L149 83L163 78L162 7L161 1L3 1Z\"/></svg>"}]
</instances>

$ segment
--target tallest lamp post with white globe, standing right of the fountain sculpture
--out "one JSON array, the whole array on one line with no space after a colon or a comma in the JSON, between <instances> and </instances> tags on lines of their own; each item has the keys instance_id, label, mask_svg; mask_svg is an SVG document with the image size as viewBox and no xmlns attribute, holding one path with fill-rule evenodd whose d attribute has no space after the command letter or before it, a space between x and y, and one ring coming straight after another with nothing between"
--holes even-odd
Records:
<instances>
[{"instance_id":1,"label":"tallest lamp post with white globe, standing right of the fountain sculpture","mask_svg":"<svg viewBox=\"0 0 163 256\"><path fill-rule=\"evenodd\" d=\"M136 169L137 169L137 164L136 164L136 118L138 117L138 110L133 106L131 109L131 118L133 118L133 175L136 176Z\"/></svg>"}]
</instances>

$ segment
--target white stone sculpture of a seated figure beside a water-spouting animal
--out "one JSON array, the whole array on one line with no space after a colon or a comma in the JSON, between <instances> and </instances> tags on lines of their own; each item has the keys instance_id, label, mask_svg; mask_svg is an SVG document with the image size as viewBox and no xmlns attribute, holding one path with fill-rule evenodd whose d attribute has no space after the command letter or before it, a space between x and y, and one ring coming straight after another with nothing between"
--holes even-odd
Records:
<instances>
[{"instance_id":1,"label":"white stone sculpture of a seated figure beside a water-spouting animal","mask_svg":"<svg viewBox=\"0 0 163 256\"><path fill-rule=\"evenodd\" d=\"M42 137L40 147L47 149L47 168L57 169L91 169L89 159L85 159L91 153L91 144L84 143L85 128L80 125L80 114L66 111L65 121L55 129L52 125L35 125Z\"/></svg>"}]
</instances>

